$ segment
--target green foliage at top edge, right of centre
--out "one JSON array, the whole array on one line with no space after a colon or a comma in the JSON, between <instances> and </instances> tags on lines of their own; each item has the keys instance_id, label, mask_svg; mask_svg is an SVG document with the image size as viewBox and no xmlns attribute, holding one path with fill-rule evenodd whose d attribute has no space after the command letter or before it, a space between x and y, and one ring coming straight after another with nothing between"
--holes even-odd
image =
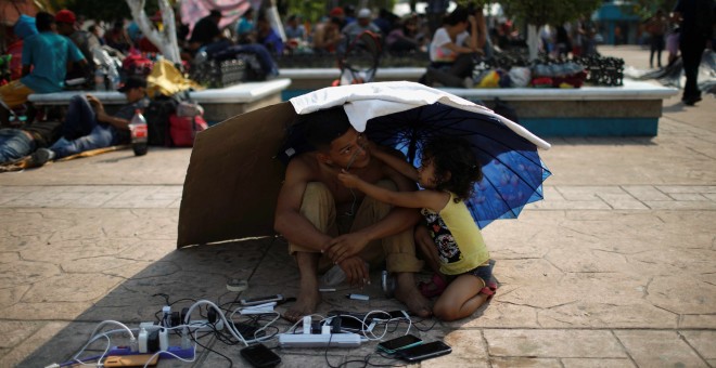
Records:
<instances>
[{"instance_id":1,"label":"green foliage at top edge, right of centre","mask_svg":"<svg viewBox=\"0 0 716 368\"><path fill-rule=\"evenodd\" d=\"M602 0L502 0L508 16L536 26L563 24L589 16Z\"/></svg>"}]
</instances>

